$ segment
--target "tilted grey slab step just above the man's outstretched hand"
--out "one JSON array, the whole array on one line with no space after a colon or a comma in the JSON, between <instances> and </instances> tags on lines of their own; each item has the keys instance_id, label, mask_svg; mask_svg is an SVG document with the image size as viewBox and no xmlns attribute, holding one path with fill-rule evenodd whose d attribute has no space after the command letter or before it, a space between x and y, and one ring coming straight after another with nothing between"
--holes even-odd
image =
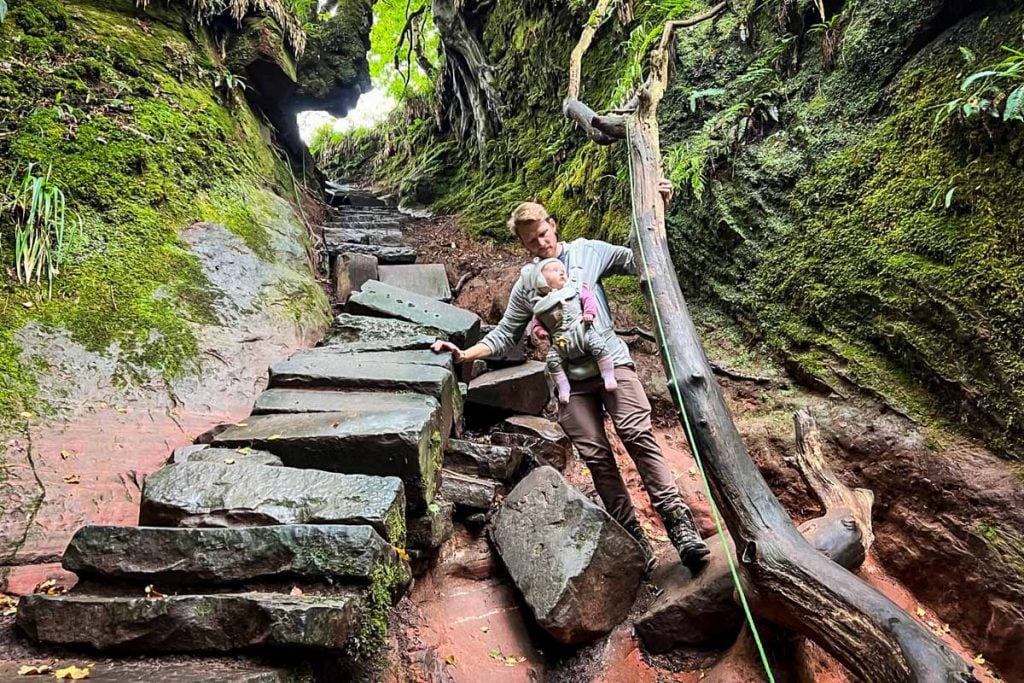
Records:
<instances>
[{"instance_id":1,"label":"tilted grey slab step just above the man's outstretched hand","mask_svg":"<svg viewBox=\"0 0 1024 683\"><path fill-rule=\"evenodd\" d=\"M349 299L348 307L352 313L397 317L436 328L462 348L480 340L480 318L476 313L384 283L364 285Z\"/></svg>"}]
</instances>

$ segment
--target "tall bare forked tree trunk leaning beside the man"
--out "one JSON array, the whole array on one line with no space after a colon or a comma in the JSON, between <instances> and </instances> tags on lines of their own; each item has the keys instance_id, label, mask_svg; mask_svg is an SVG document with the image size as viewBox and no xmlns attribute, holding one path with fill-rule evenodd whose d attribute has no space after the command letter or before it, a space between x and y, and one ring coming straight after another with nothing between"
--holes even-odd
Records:
<instances>
[{"instance_id":1,"label":"tall bare forked tree trunk leaning beside the man","mask_svg":"<svg viewBox=\"0 0 1024 683\"><path fill-rule=\"evenodd\" d=\"M606 0L598 2L599 9L606 11L607 5ZM651 54L650 77L641 89L637 113L627 121L626 137L634 221L631 243L640 263L641 287L657 323L673 400L735 542L742 592L755 614L807 636L864 680L976 681L972 667L950 647L815 550L793 524L732 422L679 288L658 193L657 104L669 80L675 30L713 18L725 8L722 3L700 16L666 25ZM603 20L596 14L572 52L573 60L582 62ZM570 96L579 94L580 74L574 67L570 62Z\"/></svg>"}]
</instances>

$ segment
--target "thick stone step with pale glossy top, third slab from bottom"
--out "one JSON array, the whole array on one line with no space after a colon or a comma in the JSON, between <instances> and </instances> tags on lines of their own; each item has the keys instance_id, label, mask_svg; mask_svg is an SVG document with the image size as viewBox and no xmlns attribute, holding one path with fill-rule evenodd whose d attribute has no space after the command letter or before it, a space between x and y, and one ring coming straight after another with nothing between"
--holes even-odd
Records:
<instances>
[{"instance_id":1,"label":"thick stone step with pale glossy top, third slab from bottom","mask_svg":"<svg viewBox=\"0 0 1024 683\"><path fill-rule=\"evenodd\" d=\"M369 524L401 547L406 495L397 477L292 467L167 465L145 478L142 526Z\"/></svg>"}]
</instances>

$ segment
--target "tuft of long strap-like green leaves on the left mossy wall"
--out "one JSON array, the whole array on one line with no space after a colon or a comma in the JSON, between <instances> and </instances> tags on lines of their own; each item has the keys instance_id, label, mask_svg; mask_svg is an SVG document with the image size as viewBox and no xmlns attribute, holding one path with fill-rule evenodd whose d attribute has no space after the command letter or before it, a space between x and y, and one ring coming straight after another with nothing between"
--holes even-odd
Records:
<instances>
[{"instance_id":1,"label":"tuft of long strap-like green leaves on the left mossy wall","mask_svg":"<svg viewBox=\"0 0 1024 683\"><path fill-rule=\"evenodd\" d=\"M50 177L36 173L29 164L20 178L17 172L7 183L3 218L14 227L14 271L24 285L42 282L52 295L53 279L68 254L71 238L81 228L81 218L68 210L63 190Z\"/></svg>"}]
</instances>

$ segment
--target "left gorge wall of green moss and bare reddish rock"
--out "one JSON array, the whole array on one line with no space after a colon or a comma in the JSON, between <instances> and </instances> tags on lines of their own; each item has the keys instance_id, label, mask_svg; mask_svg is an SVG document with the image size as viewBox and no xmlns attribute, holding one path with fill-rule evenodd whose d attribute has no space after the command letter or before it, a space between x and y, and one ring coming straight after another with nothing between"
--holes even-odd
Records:
<instances>
[{"instance_id":1,"label":"left gorge wall of green moss and bare reddish rock","mask_svg":"<svg viewBox=\"0 0 1024 683\"><path fill-rule=\"evenodd\" d=\"M81 218L51 294L17 284L0 219L0 590L26 592L79 526L134 523L141 477L246 415L267 364L325 329L294 113L344 114L369 87L371 15L8 4L0 175L33 164Z\"/></svg>"}]
</instances>

